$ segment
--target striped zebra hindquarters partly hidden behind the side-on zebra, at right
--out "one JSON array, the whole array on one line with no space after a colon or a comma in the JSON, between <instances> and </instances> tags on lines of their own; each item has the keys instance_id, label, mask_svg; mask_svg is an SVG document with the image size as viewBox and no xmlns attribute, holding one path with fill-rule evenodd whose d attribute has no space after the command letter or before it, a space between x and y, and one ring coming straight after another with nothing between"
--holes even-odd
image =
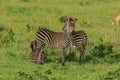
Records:
<instances>
[{"instance_id":1,"label":"striped zebra hindquarters partly hidden behind the side-on zebra, at right","mask_svg":"<svg viewBox=\"0 0 120 80\"><path fill-rule=\"evenodd\" d=\"M71 37L71 44L70 44L70 52L71 46L74 46L74 58L76 58L76 48L80 51L80 58L82 60L84 58L85 48L87 44L87 34L83 30L73 31Z\"/></svg>"}]
</instances>

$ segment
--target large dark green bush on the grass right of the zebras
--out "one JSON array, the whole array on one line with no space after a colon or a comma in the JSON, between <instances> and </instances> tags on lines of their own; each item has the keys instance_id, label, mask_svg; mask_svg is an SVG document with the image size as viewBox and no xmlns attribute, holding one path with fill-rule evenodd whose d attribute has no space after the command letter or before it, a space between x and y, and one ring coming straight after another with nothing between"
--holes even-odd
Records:
<instances>
[{"instance_id":1,"label":"large dark green bush on the grass right of the zebras","mask_svg":"<svg viewBox=\"0 0 120 80\"><path fill-rule=\"evenodd\" d=\"M119 63L120 54L118 51L113 50L113 44L110 42L103 42L103 40L99 41L98 45L95 45L90 51L88 51L88 55L85 56L83 63Z\"/></svg>"}]
</instances>

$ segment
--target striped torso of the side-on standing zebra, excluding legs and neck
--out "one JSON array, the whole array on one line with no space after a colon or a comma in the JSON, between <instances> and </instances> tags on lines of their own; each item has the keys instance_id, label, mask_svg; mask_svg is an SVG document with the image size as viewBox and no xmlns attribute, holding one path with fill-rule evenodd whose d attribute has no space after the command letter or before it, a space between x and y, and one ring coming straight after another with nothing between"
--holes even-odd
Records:
<instances>
[{"instance_id":1,"label":"striped torso of the side-on standing zebra, excluding legs and neck","mask_svg":"<svg viewBox=\"0 0 120 80\"><path fill-rule=\"evenodd\" d=\"M36 33L36 41L39 46L47 45L51 48L60 48L65 46L67 37L63 32L53 32L49 29L42 28Z\"/></svg>"}]
</instances>

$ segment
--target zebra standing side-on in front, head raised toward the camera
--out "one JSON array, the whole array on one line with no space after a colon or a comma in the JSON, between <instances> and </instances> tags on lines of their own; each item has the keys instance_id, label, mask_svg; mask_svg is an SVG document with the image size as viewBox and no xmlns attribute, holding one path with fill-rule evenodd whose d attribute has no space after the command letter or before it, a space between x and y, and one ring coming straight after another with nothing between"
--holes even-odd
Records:
<instances>
[{"instance_id":1,"label":"zebra standing side-on in front, head raised toward the camera","mask_svg":"<svg viewBox=\"0 0 120 80\"><path fill-rule=\"evenodd\" d=\"M38 56L43 51L45 45L50 48L58 48L61 51L62 55L62 65L65 65L65 56L66 50L70 45L71 33L75 29L76 19L67 18L64 27L62 28L63 32L54 32L47 28L41 28L36 32L36 53ZM37 63L42 63L36 58Z\"/></svg>"}]
</instances>

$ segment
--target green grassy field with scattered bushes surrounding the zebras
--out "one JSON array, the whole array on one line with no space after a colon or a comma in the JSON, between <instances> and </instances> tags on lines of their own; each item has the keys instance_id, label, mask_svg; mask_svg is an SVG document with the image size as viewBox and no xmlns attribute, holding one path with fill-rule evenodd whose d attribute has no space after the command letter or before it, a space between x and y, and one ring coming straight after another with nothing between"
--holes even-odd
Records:
<instances>
[{"instance_id":1,"label":"green grassy field with scattered bushes surrounding the zebras","mask_svg":"<svg viewBox=\"0 0 120 80\"><path fill-rule=\"evenodd\" d=\"M0 80L120 80L120 26L110 22L117 13L119 0L0 0ZM48 63L30 62L35 32L62 31L64 16L88 35L85 59L68 51L63 67L60 52L46 47Z\"/></svg>"}]
</instances>

